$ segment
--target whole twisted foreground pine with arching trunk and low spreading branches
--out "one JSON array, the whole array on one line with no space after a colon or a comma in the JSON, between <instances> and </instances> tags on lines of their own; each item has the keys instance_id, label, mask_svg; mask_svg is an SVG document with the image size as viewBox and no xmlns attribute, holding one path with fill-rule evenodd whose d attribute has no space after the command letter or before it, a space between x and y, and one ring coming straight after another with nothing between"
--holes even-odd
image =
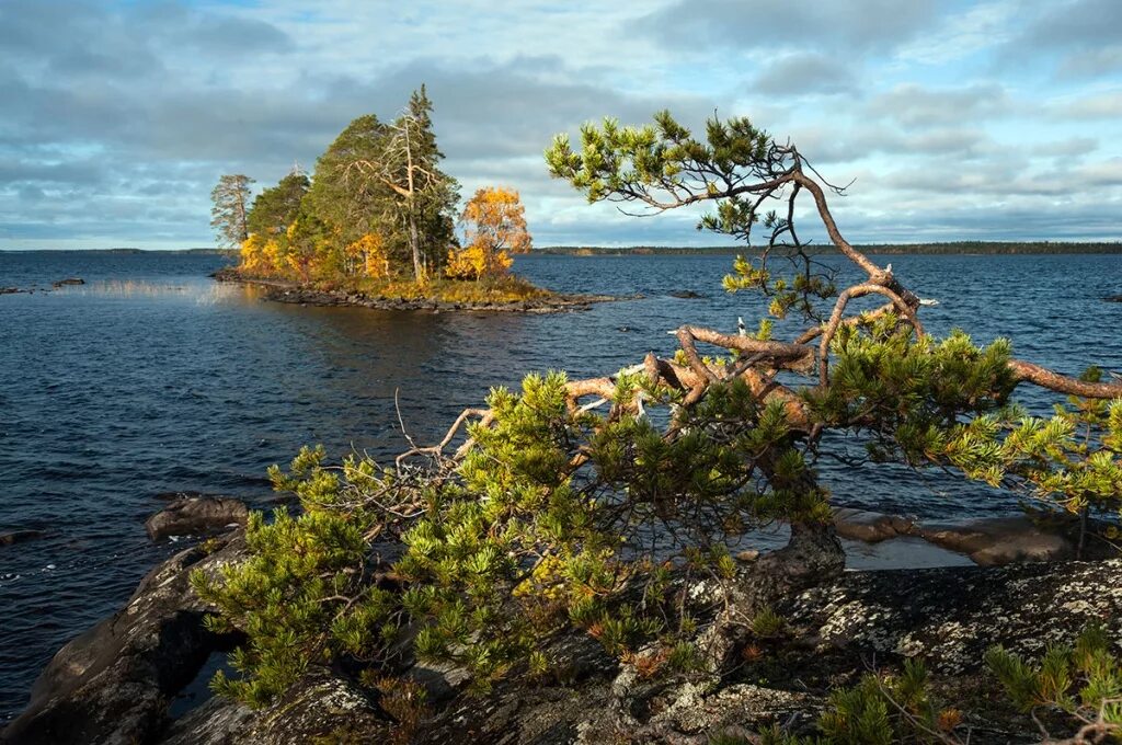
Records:
<instances>
[{"instance_id":1,"label":"whole twisted foreground pine with arching trunk and low spreading branches","mask_svg":"<svg viewBox=\"0 0 1122 745\"><path fill-rule=\"evenodd\" d=\"M1122 507L1122 384L1018 360L1005 340L926 333L921 301L845 240L826 200L839 190L793 145L747 119L710 120L698 139L662 113L649 127L588 125L579 148L561 136L546 160L591 201L709 203L701 227L745 240L762 224L762 256L738 259L726 285L767 293L773 315L807 326L778 340L767 319L755 333L682 325L673 357L586 380L528 376L392 466L329 468L305 450L289 473L274 469L304 513L256 515L251 559L195 579L222 610L212 623L249 634L241 678L219 678L220 690L260 703L340 657L393 674L404 638L486 687L564 664L546 641L569 626L649 673L724 674L766 633L771 603L844 567L815 469L827 431L864 442L873 468L934 466L1070 495L1069 508ZM840 292L799 238L803 194L864 273ZM866 296L885 302L854 312ZM1076 412L1028 417L1012 404L1021 385L1075 396ZM729 545L776 519L789 544L738 567Z\"/></svg>"}]
</instances>

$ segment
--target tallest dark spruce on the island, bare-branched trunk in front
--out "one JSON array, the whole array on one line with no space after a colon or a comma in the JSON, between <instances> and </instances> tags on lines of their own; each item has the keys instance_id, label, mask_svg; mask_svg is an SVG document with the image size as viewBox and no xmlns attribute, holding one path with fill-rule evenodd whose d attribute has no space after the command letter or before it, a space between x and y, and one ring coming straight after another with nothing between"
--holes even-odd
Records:
<instances>
[{"instance_id":1,"label":"tallest dark spruce on the island, bare-branched trunk in front","mask_svg":"<svg viewBox=\"0 0 1122 745\"><path fill-rule=\"evenodd\" d=\"M389 127L385 146L374 157L352 158L346 178L357 177L388 188L385 218L406 230L416 282L438 268L453 236L452 209L459 199L456 180L440 171L444 155L432 131L432 102L422 85L401 117Z\"/></svg>"}]
</instances>

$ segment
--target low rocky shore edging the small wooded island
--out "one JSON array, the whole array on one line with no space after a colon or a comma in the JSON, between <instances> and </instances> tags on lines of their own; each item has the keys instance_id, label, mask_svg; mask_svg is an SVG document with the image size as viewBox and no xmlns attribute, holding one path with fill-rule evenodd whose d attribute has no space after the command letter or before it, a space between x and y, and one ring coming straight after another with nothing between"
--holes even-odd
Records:
<instances>
[{"instance_id":1,"label":"low rocky shore edging the small wooded island","mask_svg":"<svg viewBox=\"0 0 1122 745\"><path fill-rule=\"evenodd\" d=\"M264 289L264 297L276 303L315 306L355 306L369 307L378 311L430 311L430 312L481 312L481 313L562 313L568 311L587 311L597 303L610 303L620 300L637 300L642 295L617 297L615 295L562 295L551 294L531 300L494 302L494 303L459 303L435 298L378 297L359 292L344 289L319 289L306 285L276 279L258 279L245 277L230 267L211 275L218 282L229 282Z\"/></svg>"}]
</instances>

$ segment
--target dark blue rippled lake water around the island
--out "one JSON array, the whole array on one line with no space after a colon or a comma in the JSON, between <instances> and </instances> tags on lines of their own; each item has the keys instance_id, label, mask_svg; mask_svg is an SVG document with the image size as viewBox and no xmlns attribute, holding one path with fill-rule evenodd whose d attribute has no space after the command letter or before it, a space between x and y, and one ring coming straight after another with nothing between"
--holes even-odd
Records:
<instances>
[{"instance_id":1,"label":"dark blue rippled lake water around the island","mask_svg":"<svg viewBox=\"0 0 1122 745\"><path fill-rule=\"evenodd\" d=\"M257 500L265 469L300 445L386 453L433 441L493 385L530 370L603 375L670 355L666 331L735 331L763 311L726 295L727 256L518 257L545 287L644 298L555 315L379 312L261 302L206 277L208 256L0 251L0 287L85 285L0 296L0 720L17 714L54 652L113 613L175 544L153 545L156 495L196 490ZM1018 356L1078 372L1122 370L1120 256L892 256L923 297L929 331L1008 335ZM671 297L691 291L700 300ZM780 329L782 333L782 329ZM1027 392L1028 393L1028 392ZM1029 396L1030 403L1043 399ZM934 475L826 470L839 502L920 516L1015 511Z\"/></svg>"}]
</instances>

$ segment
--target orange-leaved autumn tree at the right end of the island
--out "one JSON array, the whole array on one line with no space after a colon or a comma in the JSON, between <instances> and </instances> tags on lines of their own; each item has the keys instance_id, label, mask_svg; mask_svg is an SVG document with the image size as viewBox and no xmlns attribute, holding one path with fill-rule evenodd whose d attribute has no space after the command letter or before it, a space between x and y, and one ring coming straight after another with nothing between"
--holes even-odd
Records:
<instances>
[{"instance_id":1,"label":"orange-leaved autumn tree at the right end of the island","mask_svg":"<svg viewBox=\"0 0 1122 745\"><path fill-rule=\"evenodd\" d=\"M465 229L460 250L451 249L445 274L450 277L479 279L506 274L511 254L528 254L533 247L526 230L525 208L518 192L502 186L476 192L460 215Z\"/></svg>"}]
</instances>

